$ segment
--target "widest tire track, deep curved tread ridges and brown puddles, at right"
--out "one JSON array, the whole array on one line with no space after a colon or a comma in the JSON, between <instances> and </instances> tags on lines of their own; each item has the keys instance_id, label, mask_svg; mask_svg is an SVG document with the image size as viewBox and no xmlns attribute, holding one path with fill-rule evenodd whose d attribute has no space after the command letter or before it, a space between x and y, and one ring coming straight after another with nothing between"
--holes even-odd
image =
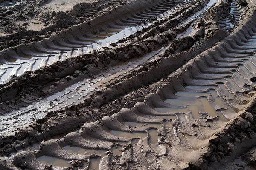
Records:
<instances>
[{"instance_id":1,"label":"widest tire track, deep curved tread ridges and brown puddles, at right","mask_svg":"<svg viewBox=\"0 0 256 170\"><path fill-rule=\"evenodd\" d=\"M84 123L61 139L43 141L38 150L19 152L6 159L13 162L9 167L207 167L202 156L208 153L209 140L255 96L254 19L156 82L158 91L143 102Z\"/></svg>"}]
</instances>

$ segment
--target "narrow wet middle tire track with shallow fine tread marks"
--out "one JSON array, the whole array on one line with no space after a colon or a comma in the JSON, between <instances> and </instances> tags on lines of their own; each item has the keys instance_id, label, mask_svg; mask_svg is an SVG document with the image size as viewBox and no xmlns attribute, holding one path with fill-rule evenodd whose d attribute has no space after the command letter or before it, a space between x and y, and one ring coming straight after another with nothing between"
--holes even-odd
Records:
<instances>
[{"instance_id":1,"label":"narrow wet middle tire track with shallow fine tread marks","mask_svg":"<svg viewBox=\"0 0 256 170\"><path fill-rule=\"evenodd\" d=\"M184 20L182 23L180 23L177 27L182 26L183 24L189 24L192 20L194 20L196 17L201 15L204 11L206 11L209 7L206 6L201 11L197 12L195 15L189 17L188 19ZM162 49L163 50L163 49ZM162 51L161 50L161 51ZM113 82L117 77L115 76L118 74L118 77L121 77L124 74L128 74L129 72L137 69L142 65L143 63L146 63L153 59L157 54L159 54L160 51L153 52L152 54L148 54L142 59L139 59L138 61L135 60L135 62L130 62L125 67L117 67L114 69L111 69L107 71L106 73L99 74L95 77L93 75L93 79L86 78L79 82L79 85L73 85L70 86L65 92L59 92L56 95L51 96L49 99L42 100L35 102L35 100L29 100L27 96L23 96L22 99L17 104L20 106L19 108L15 108L14 104L8 104L2 103L1 108L3 110L3 124L1 126L2 132L6 132L6 130L12 130L12 127L20 127L20 125L24 125L27 123L30 123L33 120L43 118L47 113L50 111L56 111L60 108L69 107L74 104L78 104L79 102L82 102L84 100L84 97L89 96L92 92L98 91L101 89L99 84L105 85L107 83ZM148 58L149 57L149 58ZM133 65L133 67L131 67ZM117 70L117 72L115 71ZM124 71L126 70L126 71ZM121 71L121 74L119 72ZM124 72L123 72L124 71ZM116 72L116 73L115 73ZM113 79L109 79L108 77L113 77ZM104 80L106 79L106 80ZM102 82L103 81L103 82ZM89 83L89 84L88 84ZM87 85L88 84L88 85ZM53 91L55 91L55 87L50 87ZM77 90L74 90L77 89ZM31 97L31 96L29 96ZM35 96L36 97L36 96ZM38 97L37 97L38 98ZM61 99L59 101L53 101L52 104L49 105L49 101L54 100L55 98ZM24 101L25 100L25 101ZM22 108L25 107L25 108ZM17 111L15 111L17 110ZM6 113L7 112L7 113ZM11 114L10 114L11 113ZM40 114L38 114L40 113ZM7 125L7 126L6 126Z\"/></svg>"}]
</instances>

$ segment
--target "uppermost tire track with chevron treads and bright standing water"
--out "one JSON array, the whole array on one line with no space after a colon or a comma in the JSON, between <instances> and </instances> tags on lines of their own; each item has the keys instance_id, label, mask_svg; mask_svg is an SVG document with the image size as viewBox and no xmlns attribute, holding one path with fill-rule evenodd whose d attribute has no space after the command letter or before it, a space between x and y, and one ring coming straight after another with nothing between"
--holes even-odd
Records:
<instances>
[{"instance_id":1,"label":"uppermost tire track with chevron treads and bright standing water","mask_svg":"<svg viewBox=\"0 0 256 170\"><path fill-rule=\"evenodd\" d=\"M77 35L73 37L73 35L66 35L66 37L69 37L69 38L64 38L64 39L58 38L58 41L55 41L56 36L55 37L53 36L52 38L44 39L42 42L34 42L31 48L27 48L26 46L21 45L19 47L20 50L18 49L19 51L18 53L16 53L13 50L13 48L10 48L9 50L6 51L6 53L2 53L2 56L1 56L3 59L1 63L4 64L0 68L3 74L1 77L1 82L3 83L8 78L10 79L13 76L18 76L20 74L23 74L24 71L34 71L45 65L51 65L53 62L56 62L56 61L63 61L64 59L67 59L70 57L76 57L79 54L86 54L87 51L93 52L94 50L98 50L97 47L99 47L99 44L101 43L105 47L108 46L106 45L107 42L111 42L110 44L115 44L115 40L118 39L118 37L119 39L123 38L122 33L116 34L116 37L112 36L109 39L107 38L108 40L107 42L105 41L101 42L100 40L95 41L95 39L96 40L104 39L106 38L104 36L104 34L106 34L105 31L113 31L113 30L115 30L116 32L124 31L125 36L128 36L129 34L134 32L134 31L131 31L132 29L135 29L135 31L137 31L136 28L139 28L139 30L143 28L142 26L136 26L135 28L134 27L131 28L131 26L136 25L136 23L138 23L139 21L145 20L147 17L160 14L168 10L169 8L172 8L172 6L174 6L179 2L181 1L179 0L164 1L162 3L166 4L166 6L159 7L161 9L152 8L152 10L154 11L151 11L151 14L145 14L145 16L141 17L139 20L136 19L136 16L140 15L140 13L125 17L125 18L131 18L129 20L123 20L123 19L116 20L113 23L110 23L106 26L102 26L101 28L99 28L99 30L96 31L99 33L98 35L93 34L92 32L86 32L85 36ZM186 0L185 3L177 5L178 7L177 10L182 8L183 6L186 6L190 2L192 1ZM130 27L130 28L119 29L119 27ZM129 29L131 32L128 31ZM106 35L109 37L111 34L106 34ZM26 58L30 58L30 59L26 59ZM12 61L12 62L8 62L8 61ZM12 72L9 70L6 71L7 68L9 68L9 70L12 68L13 69Z\"/></svg>"}]
</instances>

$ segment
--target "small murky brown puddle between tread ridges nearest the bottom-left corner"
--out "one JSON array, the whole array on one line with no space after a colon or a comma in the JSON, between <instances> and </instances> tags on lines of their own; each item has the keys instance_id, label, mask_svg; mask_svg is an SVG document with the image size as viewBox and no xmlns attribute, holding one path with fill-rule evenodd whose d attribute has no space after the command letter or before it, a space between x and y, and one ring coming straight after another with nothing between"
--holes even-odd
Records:
<instances>
[{"instance_id":1,"label":"small murky brown puddle between tread ridges nearest the bottom-left corner","mask_svg":"<svg viewBox=\"0 0 256 170\"><path fill-rule=\"evenodd\" d=\"M38 161L41 161L42 163L56 166L56 167L71 167L70 161L64 160L64 159L59 159L56 157L51 157L51 156L40 156L37 158Z\"/></svg>"}]
</instances>

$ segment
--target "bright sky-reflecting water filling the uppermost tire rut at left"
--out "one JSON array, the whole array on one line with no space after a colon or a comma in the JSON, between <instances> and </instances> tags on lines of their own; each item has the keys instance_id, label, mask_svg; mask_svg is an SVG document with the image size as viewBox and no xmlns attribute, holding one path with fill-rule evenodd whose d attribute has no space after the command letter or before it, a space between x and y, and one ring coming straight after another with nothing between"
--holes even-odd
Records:
<instances>
[{"instance_id":1,"label":"bright sky-reflecting water filling the uppermost tire rut at left","mask_svg":"<svg viewBox=\"0 0 256 170\"><path fill-rule=\"evenodd\" d=\"M70 48L70 51L65 51L65 52L59 50L59 54L49 54L48 57L23 56L23 58L26 58L27 60L9 59L8 61L13 62L13 65L1 63L2 65L1 65L0 69L6 70L6 72L3 73L5 76L0 77L0 82L3 83L3 81L8 79L9 76L12 76L10 74L12 73L12 70L15 67L17 67L16 66L17 64L20 64L20 66L21 66L18 69L18 72L16 75L16 76L19 76L20 74L23 74L25 71L34 71L34 70L40 68L41 66L51 65L53 62L63 61L64 59L67 59L68 57L77 56L77 55L79 55L78 51L83 51L82 53L86 54L88 51L92 52L93 50L98 50L98 47L102 47L102 46L106 47L109 44L116 43L117 40L123 39L124 37L127 37L137 31L139 31L142 28L143 27L140 25L131 26L131 27L127 27L127 28L110 28L110 29L112 29L112 31L114 30L112 34L108 33L108 30L106 30L105 32L101 32L101 34L94 34L95 37L88 37L88 41L87 41L88 48L81 47L75 51L73 51L73 48ZM66 56L69 53L72 54L72 56ZM74 53L74 55L73 55L73 53ZM8 67L13 67L13 68L7 69ZM14 74L14 73L12 73L12 74Z\"/></svg>"}]
</instances>

